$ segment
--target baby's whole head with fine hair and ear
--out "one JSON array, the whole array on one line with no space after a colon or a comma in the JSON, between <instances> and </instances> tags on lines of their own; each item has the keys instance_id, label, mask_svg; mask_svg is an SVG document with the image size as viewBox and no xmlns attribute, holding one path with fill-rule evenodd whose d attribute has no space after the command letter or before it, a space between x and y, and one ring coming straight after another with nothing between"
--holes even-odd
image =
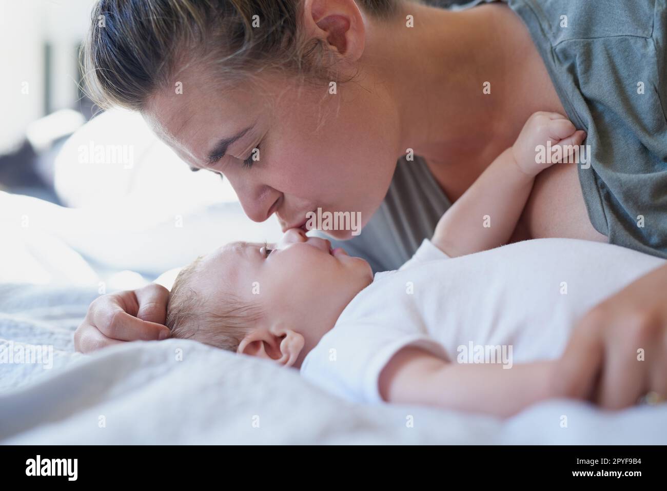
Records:
<instances>
[{"instance_id":1,"label":"baby's whole head with fine hair and ear","mask_svg":"<svg viewBox=\"0 0 667 491\"><path fill-rule=\"evenodd\" d=\"M366 261L289 229L276 244L229 243L184 268L167 326L173 338L298 368L372 281Z\"/></svg>"}]
</instances>

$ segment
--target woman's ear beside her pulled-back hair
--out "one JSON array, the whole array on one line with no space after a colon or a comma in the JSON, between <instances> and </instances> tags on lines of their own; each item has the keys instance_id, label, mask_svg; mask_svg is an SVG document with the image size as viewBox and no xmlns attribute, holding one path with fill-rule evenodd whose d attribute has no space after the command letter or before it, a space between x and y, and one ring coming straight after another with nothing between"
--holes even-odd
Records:
<instances>
[{"instance_id":1,"label":"woman's ear beside her pulled-back hair","mask_svg":"<svg viewBox=\"0 0 667 491\"><path fill-rule=\"evenodd\" d=\"M325 39L342 57L354 62L362 57L366 42L364 16L352 0L305 0L302 26L307 39Z\"/></svg>"}]
</instances>

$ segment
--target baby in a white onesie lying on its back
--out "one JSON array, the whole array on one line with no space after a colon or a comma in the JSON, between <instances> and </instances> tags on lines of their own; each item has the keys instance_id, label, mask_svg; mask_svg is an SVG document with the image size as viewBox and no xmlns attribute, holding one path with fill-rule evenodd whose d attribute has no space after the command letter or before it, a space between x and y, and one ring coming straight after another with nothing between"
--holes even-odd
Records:
<instances>
[{"instance_id":1,"label":"baby in a white onesie lying on its back","mask_svg":"<svg viewBox=\"0 0 667 491\"><path fill-rule=\"evenodd\" d=\"M561 396L551 381L571 326L662 264L571 239L499 247L534 177L552 164L536 158L539 145L568 159L584 137L562 115L532 115L397 271L374 276L366 261L301 229L271 246L231 243L198 258L171 290L172 337L298 368L361 402L510 416Z\"/></svg>"}]
</instances>

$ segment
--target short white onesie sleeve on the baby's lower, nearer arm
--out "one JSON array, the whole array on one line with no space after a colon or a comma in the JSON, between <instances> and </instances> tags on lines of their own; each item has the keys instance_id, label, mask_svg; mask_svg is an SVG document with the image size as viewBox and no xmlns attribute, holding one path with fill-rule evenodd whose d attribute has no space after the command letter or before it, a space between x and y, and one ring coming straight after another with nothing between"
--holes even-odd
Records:
<instances>
[{"instance_id":1,"label":"short white onesie sleeve on the baby's lower, nearer arm","mask_svg":"<svg viewBox=\"0 0 667 491\"><path fill-rule=\"evenodd\" d=\"M448 360L443 346L408 326L336 324L307 354L301 375L309 382L354 402L378 404L380 374L402 348L422 348Z\"/></svg>"}]
</instances>

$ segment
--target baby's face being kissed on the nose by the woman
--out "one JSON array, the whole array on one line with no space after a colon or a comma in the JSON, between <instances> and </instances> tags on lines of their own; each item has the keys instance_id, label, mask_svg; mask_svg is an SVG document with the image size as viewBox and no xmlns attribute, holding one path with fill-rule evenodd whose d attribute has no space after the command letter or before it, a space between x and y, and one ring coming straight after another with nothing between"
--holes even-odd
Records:
<instances>
[{"instance_id":1,"label":"baby's face being kissed on the nose by the woman","mask_svg":"<svg viewBox=\"0 0 667 491\"><path fill-rule=\"evenodd\" d=\"M336 323L350 300L373 281L369 264L331 243L289 229L278 243L229 243L202 260L197 289L208 298L233 292L259 305L259 324L281 322L310 350Z\"/></svg>"}]
</instances>

